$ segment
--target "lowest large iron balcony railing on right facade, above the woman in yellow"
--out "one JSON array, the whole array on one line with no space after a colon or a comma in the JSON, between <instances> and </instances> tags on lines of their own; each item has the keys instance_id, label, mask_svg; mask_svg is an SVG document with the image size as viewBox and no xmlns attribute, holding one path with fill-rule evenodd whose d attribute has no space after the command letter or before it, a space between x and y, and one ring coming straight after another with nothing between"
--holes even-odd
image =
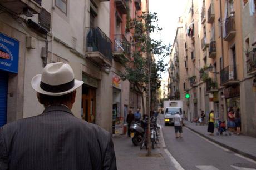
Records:
<instances>
[{"instance_id":1,"label":"lowest large iron balcony railing on right facade, above the woman in yellow","mask_svg":"<svg viewBox=\"0 0 256 170\"><path fill-rule=\"evenodd\" d=\"M237 66L227 66L220 71L220 84L237 81Z\"/></svg>"}]
</instances>

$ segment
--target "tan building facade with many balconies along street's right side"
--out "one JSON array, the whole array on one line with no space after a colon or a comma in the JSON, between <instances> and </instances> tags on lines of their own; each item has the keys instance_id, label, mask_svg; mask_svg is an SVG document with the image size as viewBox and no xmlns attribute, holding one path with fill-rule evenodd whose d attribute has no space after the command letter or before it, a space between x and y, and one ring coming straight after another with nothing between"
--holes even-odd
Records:
<instances>
[{"instance_id":1,"label":"tan building facade with many balconies along street's right side","mask_svg":"<svg viewBox=\"0 0 256 170\"><path fill-rule=\"evenodd\" d=\"M214 110L227 121L233 108L241 114L242 133L256 135L254 11L255 1L188 1L174 42L184 52L178 55L185 60L179 62L179 84L190 120ZM174 54L170 58L175 62Z\"/></svg>"}]
</instances>

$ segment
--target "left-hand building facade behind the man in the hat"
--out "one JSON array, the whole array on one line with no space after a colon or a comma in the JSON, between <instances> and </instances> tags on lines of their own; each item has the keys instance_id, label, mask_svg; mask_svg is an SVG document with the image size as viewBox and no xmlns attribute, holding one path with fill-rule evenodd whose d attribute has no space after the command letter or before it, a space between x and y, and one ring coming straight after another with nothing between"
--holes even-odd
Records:
<instances>
[{"instance_id":1,"label":"left-hand building facade behind the man in the hat","mask_svg":"<svg viewBox=\"0 0 256 170\"><path fill-rule=\"evenodd\" d=\"M120 80L124 68L116 60L115 35L124 35L126 23L119 2L127 6L114 0L0 2L0 126L41 114L31 79L47 63L64 62L85 82L77 89L75 116L112 132L114 104L123 119L130 107L130 83ZM148 6L129 3L131 13Z\"/></svg>"}]
</instances>

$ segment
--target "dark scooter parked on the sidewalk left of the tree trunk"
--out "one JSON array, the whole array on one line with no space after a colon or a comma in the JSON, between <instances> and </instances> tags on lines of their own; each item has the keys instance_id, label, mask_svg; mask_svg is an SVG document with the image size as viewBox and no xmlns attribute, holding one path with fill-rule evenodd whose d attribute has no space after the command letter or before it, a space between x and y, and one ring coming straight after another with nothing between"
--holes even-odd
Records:
<instances>
[{"instance_id":1,"label":"dark scooter parked on the sidewalk left of the tree trunk","mask_svg":"<svg viewBox=\"0 0 256 170\"><path fill-rule=\"evenodd\" d=\"M143 139L145 129L144 121L133 121L130 126L131 141L135 146L138 146Z\"/></svg>"}]
</instances>

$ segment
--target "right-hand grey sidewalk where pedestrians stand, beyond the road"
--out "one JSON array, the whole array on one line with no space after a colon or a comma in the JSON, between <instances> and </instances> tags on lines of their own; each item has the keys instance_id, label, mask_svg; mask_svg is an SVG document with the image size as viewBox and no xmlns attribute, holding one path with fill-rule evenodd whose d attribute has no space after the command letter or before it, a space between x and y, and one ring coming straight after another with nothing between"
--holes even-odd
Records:
<instances>
[{"instance_id":1,"label":"right-hand grey sidewalk where pedestrians stand, beyond the road","mask_svg":"<svg viewBox=\"0 0 256 170\"><path fill-rule=\"evenodd\" d=\"M184 121L184 124L185 127L189 128L191 131L200 134L210 141L256 161L256 138L243 135L237 136L235 134L231 136L217 136L216 128L214 129L214 136L210 136L207 132L206 125L196 126L195 123L191 123L189 121Z\"/></svg>"}]
</instances>

